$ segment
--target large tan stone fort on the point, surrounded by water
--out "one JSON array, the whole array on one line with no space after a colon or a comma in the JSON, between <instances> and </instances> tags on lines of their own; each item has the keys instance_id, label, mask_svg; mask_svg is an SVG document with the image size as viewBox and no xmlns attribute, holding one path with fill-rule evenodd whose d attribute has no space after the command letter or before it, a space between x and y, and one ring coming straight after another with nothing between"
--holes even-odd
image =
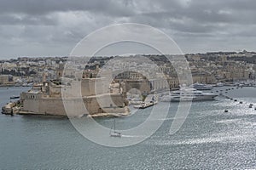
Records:
<instances>
[{"instance_id":1,"label":"large tan stone fort on the point, surrounded by water","mask_svg":"<svg viewBox=\"0 0 256 170\"><path fill-rule=\"evenodd\" d=\"M125 116L129 114L122 94L123 90L120 85L117 86L117 82L111 86L106 84L104 78L85 78L81 81L68 79L68 81L66 80L66 84L44 82L20 94L20 101L23 104L20 114L54 116L67 116L67 113L69 113L68 116ZM65 91L65 96L62 95L61 90ZM81 99L83 103L80 102ZM65 108L65 102L68 102L71 107Z\"/></svg>"}]
</instances>

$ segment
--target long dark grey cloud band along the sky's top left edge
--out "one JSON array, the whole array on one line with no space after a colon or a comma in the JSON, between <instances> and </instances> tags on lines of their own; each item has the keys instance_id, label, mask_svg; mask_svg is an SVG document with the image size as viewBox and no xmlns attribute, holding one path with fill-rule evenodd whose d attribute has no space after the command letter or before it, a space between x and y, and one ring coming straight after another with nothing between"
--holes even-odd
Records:
<instances>
[{"instance_id":1,"label":"long dark grey cloud band along the sky's top left edge","mask_svg":"<svg viewBox=\"0 0 256 170\"><path fill-rule=\"evenodd\" d=\"M2 0L0 5L0 13L48 14L84 10L118 16L131 14L123 3L111 0Z\"/></svg>"}]
</instances>

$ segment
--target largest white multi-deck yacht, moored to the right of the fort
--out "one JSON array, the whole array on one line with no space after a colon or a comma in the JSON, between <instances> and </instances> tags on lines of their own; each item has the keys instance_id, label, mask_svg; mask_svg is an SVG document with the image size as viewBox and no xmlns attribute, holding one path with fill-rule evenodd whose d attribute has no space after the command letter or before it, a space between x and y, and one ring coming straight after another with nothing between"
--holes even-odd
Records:
<instances>
[{"instance_id":1,"label":"largest white multi-deck yacht, moored to the right of the fort","mask_svg":"<svg viewBox=\"0 0 256 170\"><path fill-rule=\"evenodd\" d=\"M214 100L218 94L214 93L203 93L195 88L180 88L179 90L173 91L170 94L170 101L204 101Z\"/></svg>"}]
</instances>

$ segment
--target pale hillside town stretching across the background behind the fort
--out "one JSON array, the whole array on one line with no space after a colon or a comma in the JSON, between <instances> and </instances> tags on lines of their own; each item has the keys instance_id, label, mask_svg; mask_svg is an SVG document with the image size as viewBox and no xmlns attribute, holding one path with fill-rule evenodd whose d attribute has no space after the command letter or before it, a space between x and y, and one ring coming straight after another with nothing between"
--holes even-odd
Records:
<instances>
[{"instance_id":1,"label":"pale hillside town stretching across the background behind the fort","mask_svg":"<svg viewBox=\"0 0 256 170\"><path fill-rule=\"evenodd\" d=\"M216 84L255 79L256 53L254 52L244 50L240 53L216 52L185 54L184 56L189 62L193 82ZM0 60L0 86L32 86L35 82L43 82L44 77L46 81L58 80L60 77L72 78L75 77L76 71L82 69L84 78L99 77L100 70L111 71L114 79L133 84L133 86L148 88L143 91L152 91L166 88L164 87L166 85L161 82L163 75L171 89L177 88L180 85L177 70L185 69L180 68L179 70L177 61L171 55L152 54L133 55L126 58L119 56L93 57L89 61L77 59L76 68L70 69L70 71L68 71L69 68L65 68L65 75L62 75L67 59L67 57L2 59ZM152 66L153 64L154 66ZM148 87L142 85L148 81L151 85Z\"/></svg>"}]
</instances>

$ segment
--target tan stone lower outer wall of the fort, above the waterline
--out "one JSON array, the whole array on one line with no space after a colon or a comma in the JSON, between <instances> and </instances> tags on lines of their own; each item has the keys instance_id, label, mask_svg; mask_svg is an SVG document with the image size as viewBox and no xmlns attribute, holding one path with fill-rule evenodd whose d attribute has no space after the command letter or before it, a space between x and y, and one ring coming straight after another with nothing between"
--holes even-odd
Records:
<instances>
[{"instance_id":1,"label":"tan stone lower outer wall of the fort, above the waterline","mask_svg":"<svg viewBox=\"0 0 256 170\"><path fill-rule=\"evenodd\" d=\"M52 97L31 97L23 100L22 114L54 115L54 116L81 116L98 113L125 112L124 99L120 94L102 94L100 96L84 97L82 99ZM67 105L67 111L64 104Z\"/></svg>"}]
</instances>

